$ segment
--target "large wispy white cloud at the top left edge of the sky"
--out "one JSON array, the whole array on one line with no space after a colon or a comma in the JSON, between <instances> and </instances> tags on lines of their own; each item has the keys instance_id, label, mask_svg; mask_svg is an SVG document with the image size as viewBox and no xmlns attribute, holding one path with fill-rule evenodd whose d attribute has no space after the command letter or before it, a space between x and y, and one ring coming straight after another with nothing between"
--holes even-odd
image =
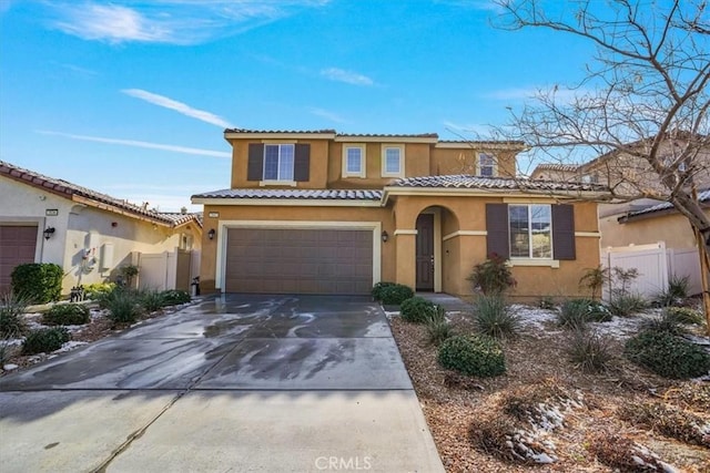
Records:
<instances>
[{"instance_id":1,"label":"large wispy white cloud at the top left edge of the sky","mask_svg":"<svg viewBox=\"0 0 710 473\"><path fill-rule=\"evenodd\" d=\"M48 2L51 27L108 43L197 44L237 34L329 0L158 0L132 7L60 0Z\"/></svg>"}]
</instances>

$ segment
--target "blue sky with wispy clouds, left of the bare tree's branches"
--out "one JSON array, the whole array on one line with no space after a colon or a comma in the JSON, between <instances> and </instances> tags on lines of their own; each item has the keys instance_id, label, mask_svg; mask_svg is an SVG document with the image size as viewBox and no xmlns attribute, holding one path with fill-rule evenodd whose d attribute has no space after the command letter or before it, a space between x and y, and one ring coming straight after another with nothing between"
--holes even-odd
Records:
<instances>
[{"instance_id":1,"label":"blue sky with wispy clouds, left of the bare tree's branches","mask_svg":"<svg viewBox=\"0 0 710 473\"><path fill-rule=\"evenodd\" d=\"M554 3L554 2L551 2ZM0 0L0 160L161 210L225 127L485 137L591 50L488 0Z\"/></svg>"}]
</instances>

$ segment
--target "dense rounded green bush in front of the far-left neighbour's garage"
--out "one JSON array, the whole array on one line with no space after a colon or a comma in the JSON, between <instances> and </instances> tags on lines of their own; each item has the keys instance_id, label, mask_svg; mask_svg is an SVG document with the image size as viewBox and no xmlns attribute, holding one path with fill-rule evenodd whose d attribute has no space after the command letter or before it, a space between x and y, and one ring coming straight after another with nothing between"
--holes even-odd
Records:
<instances>
[{"instance_id":1,"label":"dense rounded green bush in front of the far-left neighbour's garage","mask_svg":"<svg viewBox=\"0 0 710 473\"><path fill-rule=\"evenodd\" d=\"M59 300L62 295L62 268L53 263L28 263L12 270L12 291L30 304Z\"/></svg>"}]
</instances>

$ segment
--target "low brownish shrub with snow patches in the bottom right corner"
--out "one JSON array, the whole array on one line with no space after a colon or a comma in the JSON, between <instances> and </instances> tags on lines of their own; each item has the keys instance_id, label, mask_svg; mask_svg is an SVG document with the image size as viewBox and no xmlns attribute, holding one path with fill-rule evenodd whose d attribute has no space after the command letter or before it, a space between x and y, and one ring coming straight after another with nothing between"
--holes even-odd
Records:
<instances>
[{"instance_id":1,"label":"low brownish shrub with snow patches in the bottom right corner","mask_svg":"<svg viewBox=\"0 0 710 473\"><path fill-rule=\"evenodd\" d=\"M704 432L701 426L706 423L702 419L661 402L625 404L619 417L681 442L710 446L710 432Z\"/></svg>"}]
</instances>

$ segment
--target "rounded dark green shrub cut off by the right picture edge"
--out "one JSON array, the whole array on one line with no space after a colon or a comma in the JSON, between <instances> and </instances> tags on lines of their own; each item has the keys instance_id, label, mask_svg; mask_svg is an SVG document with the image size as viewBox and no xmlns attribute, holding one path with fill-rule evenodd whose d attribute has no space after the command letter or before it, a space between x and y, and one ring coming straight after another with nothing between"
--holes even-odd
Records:
<instances>
[{"instance_id":1,"label":"rounded dark green shrub cut off by the right picture edge","mask_svg":"<svg viewBox=\"0 0 710 473\"><path fill-rule=\"evenodd\" d=\"M710 370L710 353L667 331L641 331L626 342L625 354L663 378L696 378Z\"/></svg>"}]
</instances>

